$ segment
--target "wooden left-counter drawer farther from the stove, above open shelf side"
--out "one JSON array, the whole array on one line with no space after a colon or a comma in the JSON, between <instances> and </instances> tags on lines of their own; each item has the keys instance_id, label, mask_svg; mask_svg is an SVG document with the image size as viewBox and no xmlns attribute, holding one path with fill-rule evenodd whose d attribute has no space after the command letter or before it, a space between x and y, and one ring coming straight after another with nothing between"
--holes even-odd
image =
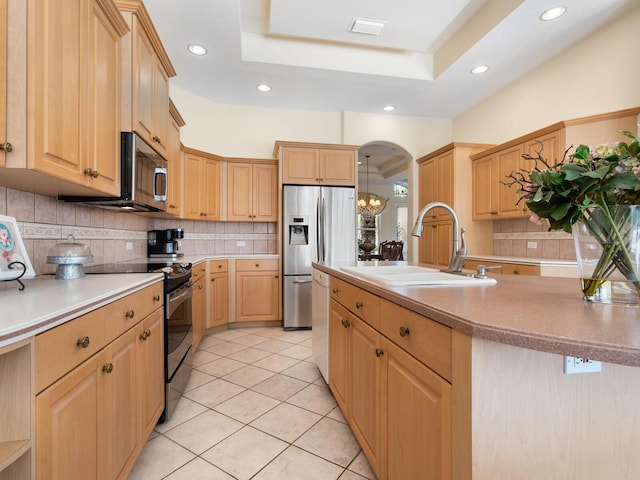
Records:
<instances>
[{"instance_id":1,"label":"wooden left-counter drawer farther from the stove, above open shelf side","mask_svg":"<svg viewBox=\"0 0 640 480\"><path fill-rule=\"evenodd\" d=\"M38 392L107 344L106 308L99 308L36 336Z\"/></svg>"}]
</instances>

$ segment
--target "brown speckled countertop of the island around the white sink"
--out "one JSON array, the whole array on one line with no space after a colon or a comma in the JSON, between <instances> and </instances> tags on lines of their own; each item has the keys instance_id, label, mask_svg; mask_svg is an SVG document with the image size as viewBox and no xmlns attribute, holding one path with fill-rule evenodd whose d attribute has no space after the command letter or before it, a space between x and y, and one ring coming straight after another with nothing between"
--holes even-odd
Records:
<instances>
[{"instance_id":1,"label":"brown speckled countertop of the island around the white sink","mask_svg":"<svg viewBox=\"0 0 640 480\"><path fill-rule=\"evenodd\" d=\"M340 270L354 265L314 263L474 338L640 366L640 308L586 302L578 279L497 274L489 286L382 287Z\"/></svg>"}]
</instances>

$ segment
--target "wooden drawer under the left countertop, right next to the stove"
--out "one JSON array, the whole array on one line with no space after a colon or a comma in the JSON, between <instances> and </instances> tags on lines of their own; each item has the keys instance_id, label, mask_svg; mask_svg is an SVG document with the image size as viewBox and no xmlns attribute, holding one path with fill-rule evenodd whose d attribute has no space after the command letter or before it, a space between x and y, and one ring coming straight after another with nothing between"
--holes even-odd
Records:
<instances>
[{"instance_id":1,"label":"wooden drawer under the left countertop, right next to the stove","mask_svg":"<svg viewBox=\"0 0 640 480\"><path fill-rule=\"evenodd\" d=\"M163 284L155 283L102 307L107 343L122 335L164 304Z\"/></svg>"}]
</instances>

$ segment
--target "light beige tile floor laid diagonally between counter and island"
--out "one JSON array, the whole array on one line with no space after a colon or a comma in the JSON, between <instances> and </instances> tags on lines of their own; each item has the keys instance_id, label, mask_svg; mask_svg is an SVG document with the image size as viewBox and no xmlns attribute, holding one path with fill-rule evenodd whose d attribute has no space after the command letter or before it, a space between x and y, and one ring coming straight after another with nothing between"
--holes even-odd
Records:
<instances>
[{"instance_id":1,"label":"light beige tile floor laid diagonally between counter and island","mask_svg":"<svg viewBox=\"0 0 640 480\"><path fill-rule=\"evenodd\" d=\"M363 480L375 475L311 357L311 332L205 336L172 418L130 480Z\"/></svg>"}]
</instances>

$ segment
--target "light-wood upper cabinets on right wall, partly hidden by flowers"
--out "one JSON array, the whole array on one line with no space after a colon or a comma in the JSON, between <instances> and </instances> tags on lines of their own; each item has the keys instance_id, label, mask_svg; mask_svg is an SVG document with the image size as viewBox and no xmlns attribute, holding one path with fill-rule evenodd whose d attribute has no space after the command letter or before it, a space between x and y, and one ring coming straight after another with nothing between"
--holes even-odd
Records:
<instances>
[{"instance_id":1,"label":"light-wood upper cabinets on right wall, partly hidden by flowers","mask_svg":"<svg viewBox=\"0 0 640 480\"><path fill-rule=\"evenodd\" d=\"M537 157L540 153L549 165L554 165L563 160L566 150L571 153L580 144L596 146L622 141L622 130L636 131L638 113L640 108L630 108L565 120L473 154L473 219L499 220L529 215L524 202L516 205L519 186L509 188L503 183L510 182L508 175L512 172L531 171L535 167L534 161L522 158L523 154Z\"/></svg>"}]
</instances>

